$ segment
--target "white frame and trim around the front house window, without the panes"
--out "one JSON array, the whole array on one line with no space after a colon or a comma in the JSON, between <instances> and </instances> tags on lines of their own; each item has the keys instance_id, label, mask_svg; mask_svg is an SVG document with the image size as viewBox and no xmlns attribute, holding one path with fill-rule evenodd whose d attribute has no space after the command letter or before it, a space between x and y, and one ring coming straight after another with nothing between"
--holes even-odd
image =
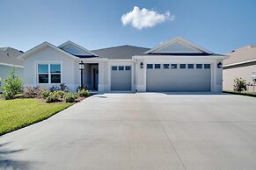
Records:
<instances>
[{"instance_id":1,"label":"white frame and trim around the front house window, without the panes","mask_svg":"<svg viewBox=\"0 0 256 170\"><path fill-rule=\"evenodd\" d=\"M39 65L42 64L42 65L48 65L48 73L39 73ZM55 65L55 64L59 64L61 66L61 73L51 73L51 65ZM44 84L61 84L62 83L62 62L60 61L37 61L35 62L35 67L36 67L36 83L37 84L41 84L41 85L44 85ZM48 83L40 83L39 82L39 74L48 74ZM51 82L51 74L60 74L61 75L61 82L58 82L58 83L52 83Z\"/></svg>"}]
</instances>

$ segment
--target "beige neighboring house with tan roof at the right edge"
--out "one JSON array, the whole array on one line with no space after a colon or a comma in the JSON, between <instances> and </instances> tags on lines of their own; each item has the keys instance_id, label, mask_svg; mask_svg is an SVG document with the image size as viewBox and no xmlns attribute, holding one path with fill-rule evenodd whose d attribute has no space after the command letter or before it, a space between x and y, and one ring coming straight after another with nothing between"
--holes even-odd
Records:
<instances>
[{"instance_id":1,"label":"beige neighboring house with tan roof at the right edge","mask_svg":"<svg viewBox=\"0 0 256 170\"><path fill-rule=\"evenodd\" d=\"M230 59L223 64L223 89L233 90L234 79L243 78L251 85L252 77L256 78L256 46L244 46L231 53ZM248 91L253 91L253 86L248 86ZM256 91L256 84L254 84Z\"/></svg>"}]
</instances>

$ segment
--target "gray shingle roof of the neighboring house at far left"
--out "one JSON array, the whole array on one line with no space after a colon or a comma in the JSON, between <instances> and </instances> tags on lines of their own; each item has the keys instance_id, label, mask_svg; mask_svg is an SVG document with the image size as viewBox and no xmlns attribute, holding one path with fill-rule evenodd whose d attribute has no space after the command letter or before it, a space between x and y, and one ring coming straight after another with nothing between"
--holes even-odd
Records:
<instances>
[{"instance_id":1,"label":"gray shingle roof of the neighboring house at far left","mask_svg":"<svg viewBox=\"0 0 256 170\"><path fill-rule=\"evenodd\" d=\"M23 61L17 59L22 54L17 49L11 47L0 47L0 63L23 66Z\"/></svg>"}]
</instances>

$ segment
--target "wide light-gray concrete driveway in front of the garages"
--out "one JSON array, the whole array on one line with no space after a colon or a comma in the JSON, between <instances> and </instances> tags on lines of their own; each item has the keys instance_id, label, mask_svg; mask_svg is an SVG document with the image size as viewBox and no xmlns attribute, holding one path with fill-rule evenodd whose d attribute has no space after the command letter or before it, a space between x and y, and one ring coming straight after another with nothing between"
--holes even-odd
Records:
<instances>
[{"instance_id":1,"label":"wide light-gray concrete driveway in front of the garages","mask_svg":"<svg viewBox=\"0 0 256 170\"><path fill-rule=\"evenodd\" d=\"M91 96L1 137L0 168L255 169L255 121L246 96Z\"/></svg>"}]
</instances>

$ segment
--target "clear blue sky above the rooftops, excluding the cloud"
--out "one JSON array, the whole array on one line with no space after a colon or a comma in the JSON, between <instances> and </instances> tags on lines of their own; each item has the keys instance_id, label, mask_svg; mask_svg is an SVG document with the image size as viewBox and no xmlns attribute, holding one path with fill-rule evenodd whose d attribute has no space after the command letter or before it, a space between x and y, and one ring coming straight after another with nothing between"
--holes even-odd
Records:
<instances>
[{"instance_id":1,"label":"clear blue sky above the rooftops, excluding the cloud","mask_svg":"<svg viewBox=\"0 0 256 170\"><path fill-rule=\"evenodd\" d=\"M135 6L174 18L142 29L123 25L122 15ZM43 41L71 40L87 49L153 47L179 36L227 53L256 45L255 6L255 0L1 0L0 46L26 51Z\"/></svg>"}]
</instances>

